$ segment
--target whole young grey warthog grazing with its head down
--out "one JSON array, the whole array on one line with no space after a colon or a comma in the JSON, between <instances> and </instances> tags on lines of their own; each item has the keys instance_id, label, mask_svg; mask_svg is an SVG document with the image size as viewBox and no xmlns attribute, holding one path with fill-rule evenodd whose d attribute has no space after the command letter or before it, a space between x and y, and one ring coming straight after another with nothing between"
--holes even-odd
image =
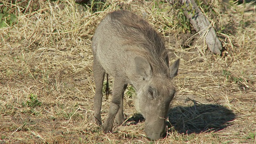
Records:
<instances>
[{"instance_id":1,"label":"whole young grey warthog grazing with its head down","mask_svg":"<svg viewBox=\"0 0 256 144\"><path fill-rule=\"evenodd\" d=\"M131 84L137 93L134 105L145 118L146 136L151 140L164 136L166 114L175 93L172 78L178 73L179 59L169 68L168 52L158 33L131 12L110 12L95 31L92 50L96 124L102 124L102 84L108 73L114 77L114 88L104 132L112 131L115 117L118 124L124 122L124 90Z\"/></svg>"}]
</instances>

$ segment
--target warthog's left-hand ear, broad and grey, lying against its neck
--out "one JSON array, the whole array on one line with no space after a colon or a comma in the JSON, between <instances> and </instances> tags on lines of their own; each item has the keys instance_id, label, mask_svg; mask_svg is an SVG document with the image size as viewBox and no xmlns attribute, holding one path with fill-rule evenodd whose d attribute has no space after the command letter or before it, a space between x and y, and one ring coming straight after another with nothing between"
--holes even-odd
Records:
<instances>
[{"instance_id":1,"label":"warthog's left-hand ear, broad and grey, lying against its neck","mask_svg":"<svg viewBox=\"0 0 256 144\"><path fill-rule=\"evenodd\" d=\"M136 64L136 72L143 76L143 79L149 78L152 75L151 66L145 58L136 56L134 61Z\"/></svg>"}]
</instances>

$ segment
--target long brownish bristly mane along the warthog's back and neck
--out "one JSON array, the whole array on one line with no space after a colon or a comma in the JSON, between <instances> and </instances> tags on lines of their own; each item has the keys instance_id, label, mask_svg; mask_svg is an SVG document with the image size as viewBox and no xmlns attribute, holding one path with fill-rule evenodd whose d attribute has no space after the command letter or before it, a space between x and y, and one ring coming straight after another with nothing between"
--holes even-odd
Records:
<instances>
[{"instance_id":1,"label":"long brownish bristly mane along the warthog's back and neck","mask_svg":"<svg viewBox=\"0 0 256 144\"><path fill-rule=\"evenodd\" d=\"M137 48L129 49L140 53L152 66L152 73L169 74L168 51L162 37L139 16L128 11L110 13L112 24L126 40L123 44L132 44ZM139 48L138 48L139 47Z\"/></svg>"}]
</instances>

